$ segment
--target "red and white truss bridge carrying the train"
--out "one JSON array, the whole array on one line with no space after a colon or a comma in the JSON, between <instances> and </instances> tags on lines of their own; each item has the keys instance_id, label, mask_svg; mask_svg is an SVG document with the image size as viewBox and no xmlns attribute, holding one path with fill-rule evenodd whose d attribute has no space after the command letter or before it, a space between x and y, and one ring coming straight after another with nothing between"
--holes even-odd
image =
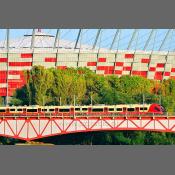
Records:
<instances>
[{"instance_id":1,"label":"red and white truss bridge carrying the train","mask_svg":"<svg viewBox=\"0 0 175 175\"><path fill-rule=\"evenodd\" d=\"M91 131L175 132L175 115L13 115L0 117L0 135L21 140L35 140L61 134Z\"/></svg>"}]
</instances>

